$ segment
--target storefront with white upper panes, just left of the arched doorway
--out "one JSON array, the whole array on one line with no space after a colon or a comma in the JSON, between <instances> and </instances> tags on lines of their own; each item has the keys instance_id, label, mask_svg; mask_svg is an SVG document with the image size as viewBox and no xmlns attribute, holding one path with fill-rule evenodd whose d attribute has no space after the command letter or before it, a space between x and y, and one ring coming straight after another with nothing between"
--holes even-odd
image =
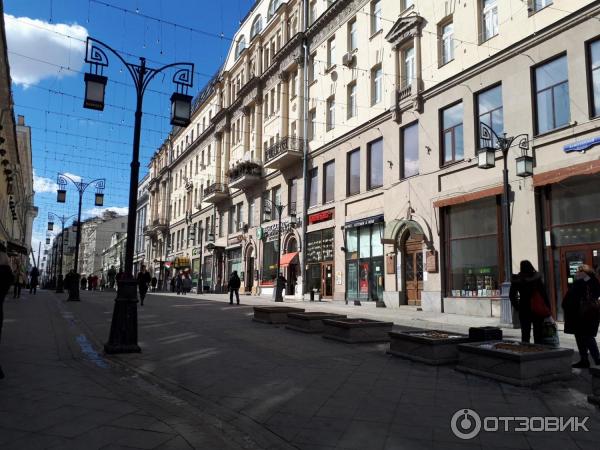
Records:
<instances>
[{"instance_id":1,"label":"storefront with white upper panes, just left of the arched doorway","mask_svg":"<svg viewBox=\"0 0 600 450\"><path fill-rule=\"evenodd\" d=\"M383 215L347 222L346 300L383 301Z\"/></svg>"}]
</instances>

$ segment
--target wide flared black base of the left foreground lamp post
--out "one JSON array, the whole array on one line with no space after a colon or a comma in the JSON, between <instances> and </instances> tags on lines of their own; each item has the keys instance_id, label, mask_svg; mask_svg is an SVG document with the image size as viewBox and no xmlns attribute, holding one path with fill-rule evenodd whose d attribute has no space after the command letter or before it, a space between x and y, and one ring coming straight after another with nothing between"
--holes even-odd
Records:
<instances>
[{"instance_id":1,"label":"wide flared black base of the left foreground lamp post","mask_svg":"<svg viewBox=\"0 0 600 450\"><path fill-rule=\"evenodd\" d=\"M110 336L104 351L116 353L140 353L137 343L137 282L121 280L117 286L117 298L113 310Z\"/></svg>"}]
</instances>

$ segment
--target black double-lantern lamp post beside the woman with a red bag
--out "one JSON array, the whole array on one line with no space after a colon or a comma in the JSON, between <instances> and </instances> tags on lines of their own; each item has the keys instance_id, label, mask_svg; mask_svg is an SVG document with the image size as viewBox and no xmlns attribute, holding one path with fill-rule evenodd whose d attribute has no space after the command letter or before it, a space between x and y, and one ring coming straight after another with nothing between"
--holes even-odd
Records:
<instances>
[{"instance_id":1,"label":"black double-lantern lamp post beside the woman with a red bag","mask_svg":"<svg viewBox=\"0 0 600 450\"><path fill-rule=\"evenodd\" d=\"M481 148L477 154L477 165L481 169L491 169L496 165L496 150L502 153L502 178L504 183L504 194L502 195L502 231L504 235L504 282L501 287L500 322L504 325L513 326L512 306L510 304L509 291L512 278L512 233L510 227L510 183L508 181L508 152L515 141L521 149L521 156L517 158L517 175L527 177L533 175L533 158L528 155L529 135L498 136L496 132L486 123L479 123L479 138Z\"/></svg>"}]
</instances>

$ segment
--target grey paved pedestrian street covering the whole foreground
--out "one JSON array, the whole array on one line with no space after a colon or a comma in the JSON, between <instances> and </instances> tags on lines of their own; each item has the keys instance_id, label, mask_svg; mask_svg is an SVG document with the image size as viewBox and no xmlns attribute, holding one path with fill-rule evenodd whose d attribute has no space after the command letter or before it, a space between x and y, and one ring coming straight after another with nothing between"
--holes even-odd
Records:
<instances>
[{"instance_id":1,"label":"grey paved pedestrian street covering the whole foreground","mask_svg":"<svg viewBox=\"0 0 600 450\"><path fill-rule=\"evenodd\" d=\"M384 344L353 346L252 322L251 304L268 300L243 297L241 306L229 306L217 295L150 294L139 308L142 353L105 357L95 352L108 337L114 296L82 292L81 303L66 303L42 293L8 302L0 346L7 372L0 382L1 448L549 450L596 449L600 442L600 414L586 400L587 371L567 382L518 388L395 358ZM365 317L401 312L302 306L345 308ZM466 327L465 318L462 324L460 317L427 321L421 320L426 314L406 311L420 325ZM416 325L406 317L394 321ZM464 408L481 416L589 416L590 431L482 432L463 441L450 420ZM105 428L114 433L110 443L100 442ZM144 438L134 442L138 433ZM36 445L40 436L49 444Z\"/></svg>"}]
</instances>

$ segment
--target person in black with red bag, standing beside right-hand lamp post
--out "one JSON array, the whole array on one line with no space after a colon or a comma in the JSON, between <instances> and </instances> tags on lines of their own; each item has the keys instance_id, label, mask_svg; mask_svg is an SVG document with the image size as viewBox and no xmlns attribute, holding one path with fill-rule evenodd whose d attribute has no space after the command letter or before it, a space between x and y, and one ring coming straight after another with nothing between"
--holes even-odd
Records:
<instances>
[{"instance_id":1,"label":"person in black with red bag, standing beside right-hand lamp post","mask_svg":"<svg viewBox=\"0 0 600 450\"><path fill-rule=\"evenodd\" d=\"M512 306L519 312L521 342L530 342L533 325L533 342L541 344L544 319L552 313L542 276L530 261L521 261L519 273L512 278L509 297Z\"/></svg>"}]
</instances>

